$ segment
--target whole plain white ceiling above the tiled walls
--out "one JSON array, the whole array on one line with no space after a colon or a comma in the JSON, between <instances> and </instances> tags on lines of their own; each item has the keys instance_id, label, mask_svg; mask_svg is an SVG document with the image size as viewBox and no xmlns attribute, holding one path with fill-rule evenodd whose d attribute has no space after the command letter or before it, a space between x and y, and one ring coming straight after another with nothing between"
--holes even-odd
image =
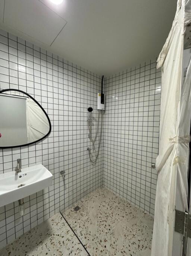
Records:
<instances>
[{"instance_id":1,"label":"whole plain white ceiling above the tiled walls","mask_svg":"<svg viewBox=\"0 0 191 256\"><path fill-rule=\"evenodd\" d=\"M0 0L0 27L107 76L157 57L175 10L176 0Z\"/></svg>"}]
</instances>

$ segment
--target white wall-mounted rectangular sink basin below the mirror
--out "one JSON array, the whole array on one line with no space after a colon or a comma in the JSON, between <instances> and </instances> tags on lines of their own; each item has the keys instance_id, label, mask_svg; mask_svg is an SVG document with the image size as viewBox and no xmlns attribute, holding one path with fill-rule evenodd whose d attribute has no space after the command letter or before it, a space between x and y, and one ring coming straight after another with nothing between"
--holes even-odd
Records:
<instances>
[{"instance_id":1,"label":"white wall-mounted rectangular sink basin below the mirror","mask_svg":"<svg viewBox=\"0 0 191 256\"><path fill-rule=\"evenodd\" d=\"M51 182L52 174L43 165L0 174L0 207L43 190Z\"/></svg>"}]
</instances>

